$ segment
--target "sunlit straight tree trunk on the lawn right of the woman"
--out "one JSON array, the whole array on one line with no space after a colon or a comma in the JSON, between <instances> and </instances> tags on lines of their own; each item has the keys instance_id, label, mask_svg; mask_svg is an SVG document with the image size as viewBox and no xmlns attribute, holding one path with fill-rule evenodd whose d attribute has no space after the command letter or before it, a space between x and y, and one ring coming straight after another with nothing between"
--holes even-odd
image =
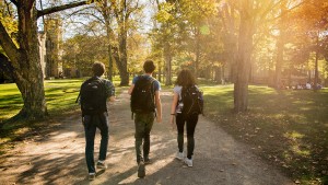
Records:
<instances>
[{"instance_id":1,"label":"sunlit straight tree trunk on the lawn right of the woman","mask_svg":"<svg viewBox=\"0 0 328 185\"><path fill-rule=\"evenodd\" d=\"M237 54L237 77L234 85L234 111L246 112L248 106L248 79L253 48L253 0L245 0L241 10L241 26Z\"/></svg>"}]
</instances>

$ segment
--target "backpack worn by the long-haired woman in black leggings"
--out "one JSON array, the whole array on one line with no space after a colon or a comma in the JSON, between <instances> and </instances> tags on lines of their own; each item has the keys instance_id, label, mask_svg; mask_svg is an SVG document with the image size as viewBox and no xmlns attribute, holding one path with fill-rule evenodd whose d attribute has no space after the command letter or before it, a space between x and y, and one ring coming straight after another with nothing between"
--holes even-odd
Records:
<instances>
[{"instance_id":1,"label":"backpack worn by the long-haired woman in black leggings","mask_svg":"<svg viewBox=\"0 0 328 185\"><path fill-rule=\"evenodd\" d=\"M187 119L194 114L203 114L202 92L196 86L183 86L181 101L184 103L181 114Z\"/></svg>"}]
</instances>

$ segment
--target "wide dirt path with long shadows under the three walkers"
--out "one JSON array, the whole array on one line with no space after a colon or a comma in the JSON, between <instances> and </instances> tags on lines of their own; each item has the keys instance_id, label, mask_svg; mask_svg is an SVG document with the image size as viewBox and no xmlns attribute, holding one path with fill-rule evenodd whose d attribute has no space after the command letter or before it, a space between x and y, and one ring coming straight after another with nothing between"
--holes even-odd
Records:
<instances>
[{"instance_id":1,"label":"wide dirt path with long shadows under the three walkers","mask_svg":"<svg viewBox=\"0 0 328 185\"><path fill-rule=\"evenodd\" d=\"M214 123L200 117L194 167L174 159L176 130L168 124L171 93L163 92L163 123L154 124L147 176L137 177L134 125L127 92L109 106L108 169L89 182L80 115L60 123L38 142L22 143L0 161L0 184L147 184L147 185L288 185L293 182L236 142ZM98 151L99 132L95 140ZM185 141L186 143L186 141ZM97 158L97 153L95 154ZM5 159L5 160L3 160Z\"/></svg>"}]
</instances>

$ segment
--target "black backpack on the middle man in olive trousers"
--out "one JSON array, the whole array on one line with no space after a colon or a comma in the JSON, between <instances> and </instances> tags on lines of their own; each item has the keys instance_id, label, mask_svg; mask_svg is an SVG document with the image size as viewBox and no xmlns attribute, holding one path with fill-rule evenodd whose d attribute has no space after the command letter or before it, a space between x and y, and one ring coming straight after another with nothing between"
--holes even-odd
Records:
<instances>
[{"instance_id":1,"label":"black backpack on the middle man in olive trousers","mask_svg":"<svg viewBox=\"0 0 328 185\"><path fill-rule=\"evenodd\" d=\"M152 77L139 76L131 93L130 106L132 113L155 112L154 81Z\"/></svg>"}]
</instances>

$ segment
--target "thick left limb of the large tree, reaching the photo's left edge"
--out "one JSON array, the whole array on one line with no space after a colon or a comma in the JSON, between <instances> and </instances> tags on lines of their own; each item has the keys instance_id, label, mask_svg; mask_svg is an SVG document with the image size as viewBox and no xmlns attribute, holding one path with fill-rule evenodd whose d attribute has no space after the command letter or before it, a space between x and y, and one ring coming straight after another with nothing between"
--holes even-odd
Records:
<instances>
[{"instance_id":1,"label":"thick left limb of the large tree, reaching the photo's left edge","mask_svg":"<svg viewBox=\"0 0 328 185\"><path fill-rule=\"evenodd\" d=\"M19 66L19 49L5 31L2 22L0 21L0 46L3 48L7 56L14 66Z\"/></svg>"}]
</instances>

